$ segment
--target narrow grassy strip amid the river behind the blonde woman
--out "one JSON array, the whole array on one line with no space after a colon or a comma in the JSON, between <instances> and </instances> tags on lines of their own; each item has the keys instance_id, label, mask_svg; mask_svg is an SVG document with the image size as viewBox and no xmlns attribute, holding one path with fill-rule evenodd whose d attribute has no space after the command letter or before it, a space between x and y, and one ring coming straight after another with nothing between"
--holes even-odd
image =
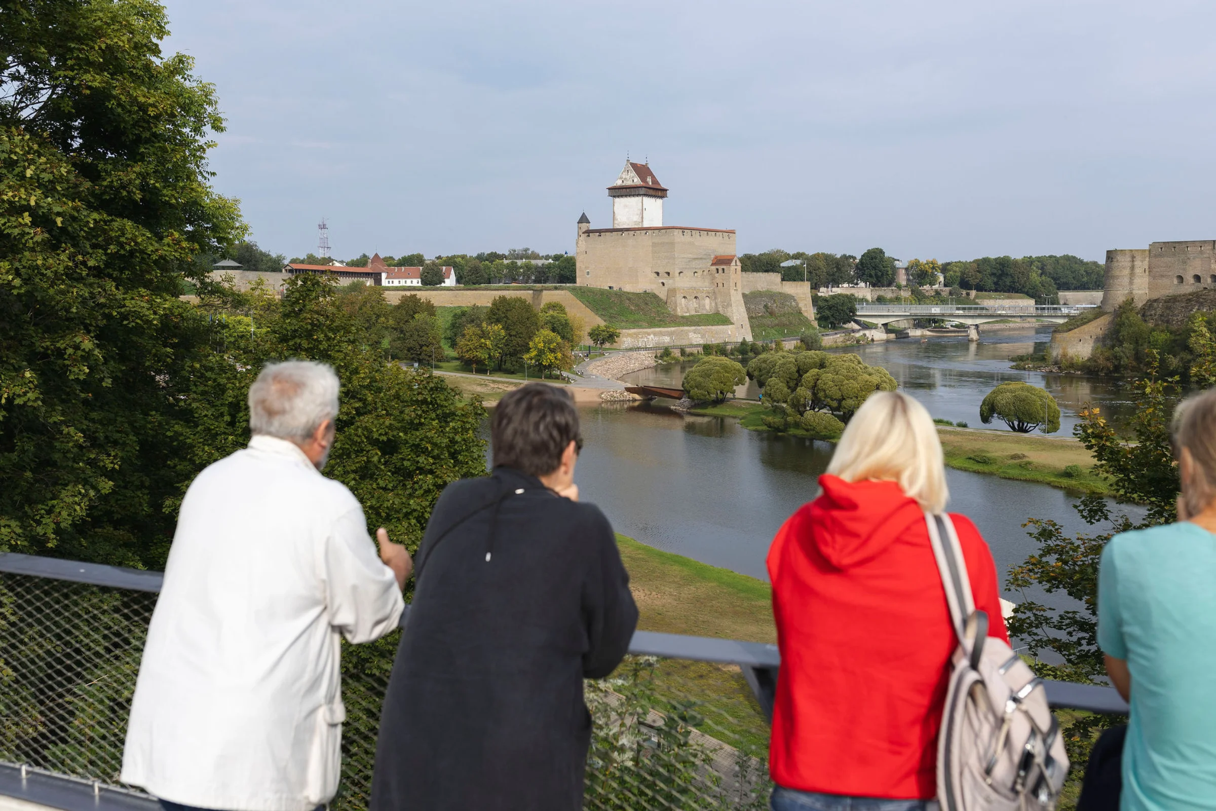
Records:
<instances>
[{"instance_id":1,"label":"narrow grassy strip amid the river behind the blonde woman","mask_svg":"<svg viewBox=\"0 0 1216 811\"><path fill-rule=\"evenodd\" d=\"M772 412L759 402L731 400L694 407L688 413L734 417L749 430L771 430L764 424L764 418ZM796 428L786 433L818 439ZM938 427L938 437L946 464L958 471L1098 495L1110 491L1107 480L1093 473L1093 456L1075 439L941 426Z\"/></svg>"}]
</instances>

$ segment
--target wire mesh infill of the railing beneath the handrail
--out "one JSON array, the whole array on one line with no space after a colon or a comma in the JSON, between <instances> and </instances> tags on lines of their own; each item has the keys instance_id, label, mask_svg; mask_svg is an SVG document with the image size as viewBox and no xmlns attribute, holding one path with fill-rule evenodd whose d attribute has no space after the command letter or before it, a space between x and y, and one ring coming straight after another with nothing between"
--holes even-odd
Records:
<instances>
[{"instance_id":1,"label":"wire mesh infill of the railing beneath the handrail","mask_svg":"<svg viewBox=\"0 0 1216 811\"><path fill-rule=\"evenodd\" d=\"M156 595L0 573L0 761L120 785ZM400 631L343 647L336 811L366 809ZM769 723L738 668L629 657L586 683L587 809L765 809Z\"/></svg>"}]
</instances>

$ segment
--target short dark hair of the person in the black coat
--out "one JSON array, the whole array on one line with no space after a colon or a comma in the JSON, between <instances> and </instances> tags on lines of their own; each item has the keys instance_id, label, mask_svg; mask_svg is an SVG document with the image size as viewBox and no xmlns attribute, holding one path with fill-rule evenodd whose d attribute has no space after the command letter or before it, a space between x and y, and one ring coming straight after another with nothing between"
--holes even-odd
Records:
<instances>
[{"instance_id":1,"label":"short dark hair of the person in the black coat","mask_svg":"<svg viewBox=\"0 0 1216 811\"><path fill-rule=\"evenodd\" d=\"M494 467L548 475L570 443L582 450L579 412L570 393L546 383L528 383L499 400L490 421Z\"/></svg>"}]
</instances>

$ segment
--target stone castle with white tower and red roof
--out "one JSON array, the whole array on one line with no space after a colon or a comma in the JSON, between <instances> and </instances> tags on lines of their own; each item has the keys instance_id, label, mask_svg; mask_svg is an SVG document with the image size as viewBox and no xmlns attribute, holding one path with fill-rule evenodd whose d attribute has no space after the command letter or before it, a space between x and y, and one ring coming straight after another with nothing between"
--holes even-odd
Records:
<instances>
[{"instance_id":1,"label":"stone castle with white tower and red roof","mask_svg":"<svg viewBox=\"0 0 1216 811\"><path fill-rule=\"evenodd\" d=\"M668 188L646 163L626 160L608 196L610 229L592 229L586 213L579 218L578 283L654 293L677 315L721 312L734 339L750 340L734 231L663 225Z\"/></svg>"}]
</instances>

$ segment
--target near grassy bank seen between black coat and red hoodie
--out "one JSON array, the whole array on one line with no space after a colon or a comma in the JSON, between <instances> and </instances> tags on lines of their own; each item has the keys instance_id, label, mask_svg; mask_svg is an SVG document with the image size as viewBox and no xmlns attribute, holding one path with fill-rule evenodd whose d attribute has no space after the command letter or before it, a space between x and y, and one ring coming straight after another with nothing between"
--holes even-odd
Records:
<instances>
[{"instance_id":1,"label":"near grassy bank seen between black coat and red hoodie","mask_svg":"<svg viewBox=\"0 0 1216 811\"><path fill-rule=\"evenodd\" d=\"M643 631L775 642L769 584L617 536ZM769 722L734 665L664 659L655 691L694 700L705 734L766 756Z\"/></svg>"}]
</instances>

